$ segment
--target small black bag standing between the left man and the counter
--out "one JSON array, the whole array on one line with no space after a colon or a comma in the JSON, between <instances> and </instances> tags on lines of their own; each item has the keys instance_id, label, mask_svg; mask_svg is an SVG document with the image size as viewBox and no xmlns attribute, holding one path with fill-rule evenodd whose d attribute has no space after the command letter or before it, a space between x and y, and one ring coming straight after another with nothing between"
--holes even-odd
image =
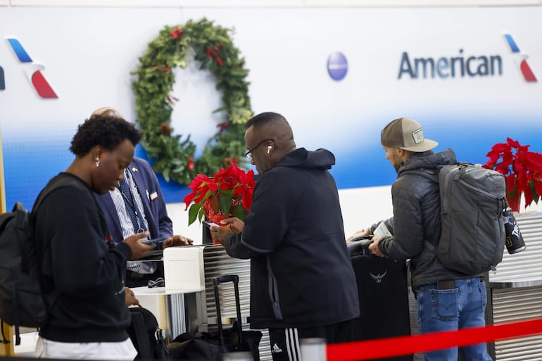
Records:
<instances>
[{"instance_id":1,"label":"small black bag standing between the left man and the counter","mask_svg":"<svg viewBox=\"0 0 542 361\"><path fill-rule=\"evenodd\" d=\"M146 308L131 307L132 324L126 330L137 350L135 360L169 360L168 347L153 313Z\"/></svg>"}]
</instances>

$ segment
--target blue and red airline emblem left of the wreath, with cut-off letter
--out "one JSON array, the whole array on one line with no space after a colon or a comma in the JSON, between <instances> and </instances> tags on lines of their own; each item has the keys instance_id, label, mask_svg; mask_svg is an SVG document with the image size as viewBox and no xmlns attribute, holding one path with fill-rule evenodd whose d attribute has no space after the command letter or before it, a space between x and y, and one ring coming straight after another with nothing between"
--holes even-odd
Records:
<instances>
[{"instance_id":1,"label":"blue and red airline emblem left of the wreath, with cut-off letter","mask_svg":"<svg viewBox=\"0 0 542 361\"><path fill-rule=\"evenodd\" d=\"M6 40L18 61L23 63L23 70L37 94L44 99L57 99L58 96L42 74L42 70L45 69L44 65L34 63L18 39L8 37ZM0 67L0 90L4 89L6 89L6 78L4 77L4 69Z\"/></svg>"}]
</instances>

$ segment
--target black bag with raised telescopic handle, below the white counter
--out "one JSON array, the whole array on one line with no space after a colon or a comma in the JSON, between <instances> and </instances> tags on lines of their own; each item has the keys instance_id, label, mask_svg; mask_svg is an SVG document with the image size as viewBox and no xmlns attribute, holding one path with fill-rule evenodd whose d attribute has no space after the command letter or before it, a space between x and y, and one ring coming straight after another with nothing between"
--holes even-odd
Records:
<instances>
[{"instance_id":1,"label":"black bag with raised telescopic handle, below the white counter","mask_svg":"<svg viewBox=\"0 0 542 361\"><path fill-rule=\"evenodd\" d=\"M243 331L241 327L241 305L239 303L239 277L237 274L217 277L211 280L215 289L215 303L218 320L218 331L191 334L185 332L177 336L169 345L171 360L220 361L222 355L232 352L250 352L253 361L260 361L261 331ZM233 282L235 290L235 306L237 321L229 329L224 329L220 320L220 299L218 286Z\"/></svg>"}]
</instances>

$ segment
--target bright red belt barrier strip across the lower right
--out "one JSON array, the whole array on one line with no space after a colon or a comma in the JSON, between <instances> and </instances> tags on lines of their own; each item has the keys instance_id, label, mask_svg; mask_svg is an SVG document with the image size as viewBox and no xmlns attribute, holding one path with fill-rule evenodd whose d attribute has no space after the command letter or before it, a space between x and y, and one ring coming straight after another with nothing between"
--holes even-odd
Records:
<instances>
[{"instance_id":1,"label":"bright red belt barrier strip across the lower right","mask_svg":"<svg viewBox=\"0 0 542 361\"><path fill-rule=\"evenodd\" d=\"M327 346L327 361L374 360L542 334L542 319Z\"/></svg>"}]
</instances>

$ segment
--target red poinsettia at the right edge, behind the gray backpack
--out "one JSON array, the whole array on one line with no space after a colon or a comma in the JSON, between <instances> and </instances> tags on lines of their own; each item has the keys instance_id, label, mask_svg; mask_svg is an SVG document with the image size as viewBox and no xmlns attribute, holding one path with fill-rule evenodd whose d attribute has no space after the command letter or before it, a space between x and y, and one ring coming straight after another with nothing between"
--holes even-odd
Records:
<instances>
[{"instance_id":1,"label":"red poinsettia at the right edge, behind the gray backpack","mask_svg":"<svg viewBox=\"0 0 542 361\"><path fill-rule=\"evenodd\" d=\"M495 144L486 154L485 168L496 170L506 179L506 200L513 211L519 212L522 194L525 205L538 202L542 194L542 153L529 151L510 138L506 143Z\"/></svg>"}]
</instances>

